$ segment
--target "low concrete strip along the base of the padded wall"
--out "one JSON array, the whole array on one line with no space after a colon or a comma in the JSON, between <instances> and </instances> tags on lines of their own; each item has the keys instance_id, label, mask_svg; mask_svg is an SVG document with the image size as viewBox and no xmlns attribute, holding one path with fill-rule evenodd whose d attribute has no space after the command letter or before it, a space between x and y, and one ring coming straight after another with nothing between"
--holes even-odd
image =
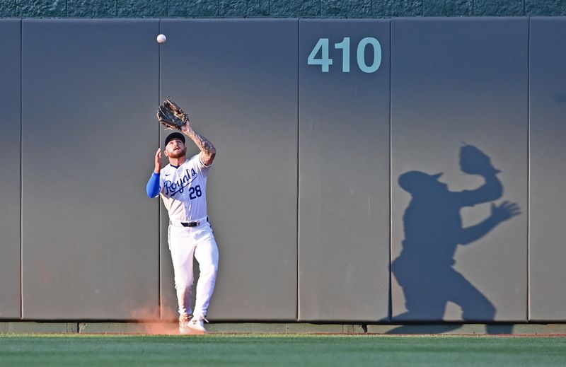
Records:
<instances>
[{"instance_id":1,"label":"low concrete strip along the base of the padded wall","mask_svg":"<svg viewBox=\"0 0 566 367\"><path fill-rule=\"evenodd\" d=\"M212 322L218 334L512 334L562 335L566 324L410 324L354 325L299 322ZM0 322L0 334L177 334L176 322Z\"/></svg>"}]
</instances>

